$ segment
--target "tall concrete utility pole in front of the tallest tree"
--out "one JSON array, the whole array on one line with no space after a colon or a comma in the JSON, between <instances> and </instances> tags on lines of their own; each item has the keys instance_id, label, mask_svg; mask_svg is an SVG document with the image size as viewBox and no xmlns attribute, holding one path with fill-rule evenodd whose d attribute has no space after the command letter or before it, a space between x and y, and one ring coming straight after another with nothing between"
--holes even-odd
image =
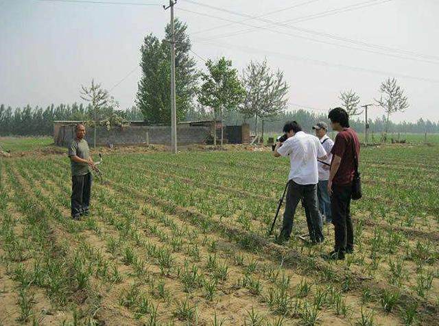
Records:
<instances>
[{"instance_id":1,"label":"tall concrete utility pole in front of the tallest tree","mask_svg":"<svg viewBox=\"0 0 439 326\"><path fill-rule=\"evenodd\" d=\"M171 8L171 151L177 153L177 112L176 112L176 34L174 32L174 5L177 0L169 0L169 5L163 9Z\"/></svg>"}]
</instances>

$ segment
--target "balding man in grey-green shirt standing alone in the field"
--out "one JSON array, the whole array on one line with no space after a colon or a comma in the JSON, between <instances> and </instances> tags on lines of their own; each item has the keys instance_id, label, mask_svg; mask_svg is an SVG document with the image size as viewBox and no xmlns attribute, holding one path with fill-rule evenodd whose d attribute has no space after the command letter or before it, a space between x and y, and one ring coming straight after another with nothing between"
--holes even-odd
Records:
<instances>
[{"instance_id":1,"label":"balding man in grey-green shirt standing alone in the field","mask_svg":"<svg viewBox=\"0 0 439 326\"><path fill-rule=\"evenodd\" d=\"M84 125L76 125L76 137L69 147L71 165L71 216L79 221L80 216L89 214L91 182L90 167L95 168L88 143L84 139Z\"/></svg>"}]
</instances>

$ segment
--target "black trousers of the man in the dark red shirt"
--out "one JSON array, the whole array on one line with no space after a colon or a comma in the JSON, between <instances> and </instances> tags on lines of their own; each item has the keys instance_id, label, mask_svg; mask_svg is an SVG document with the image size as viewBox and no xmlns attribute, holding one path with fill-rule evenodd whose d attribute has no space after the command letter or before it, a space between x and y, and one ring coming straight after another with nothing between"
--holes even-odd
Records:
<instances>
[{"instance_id":1,"label":"black trousers of the man in the dark red shirt","mask_svg":"<svg viewBox=\"0 0 439 326\"><path fill-rule=\"evenodd\" d=\"M352 186L333 184L331 196L332 223L335 228L335 251L351 250L354 246L354 231L351 217Z\"/></svg>"}]
</instances>

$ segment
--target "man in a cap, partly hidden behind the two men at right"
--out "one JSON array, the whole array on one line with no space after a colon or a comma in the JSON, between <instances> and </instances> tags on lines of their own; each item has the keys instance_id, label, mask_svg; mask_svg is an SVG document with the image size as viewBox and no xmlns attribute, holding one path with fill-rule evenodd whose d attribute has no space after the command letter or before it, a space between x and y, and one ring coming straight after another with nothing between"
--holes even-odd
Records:
<instances>
[{"instance_id":1,"label":"man in a cap, partly hidden behind the two men at right","mask_svg":"<svg viewBox=\"0 0 439 326\"><path fill-rule=\"evenodd\" d=\"M324 122L316 123L316 125L313 126L313 129L316 131L316 136L319 138L320 143L322 144L324 150L328 154L327 160L324 160L322 162L331 164L331 159L332 159L331 149L334 146L334 142L327 135L328 125ZM327 164L323 164L322 162L318 162L318 185L317 185L318 205L320 208L320 213L324 215L326 223L331 223L332 222L331 197L329 197L329 193L328 193L330 166Z\"/></svg>"}]
</instances>

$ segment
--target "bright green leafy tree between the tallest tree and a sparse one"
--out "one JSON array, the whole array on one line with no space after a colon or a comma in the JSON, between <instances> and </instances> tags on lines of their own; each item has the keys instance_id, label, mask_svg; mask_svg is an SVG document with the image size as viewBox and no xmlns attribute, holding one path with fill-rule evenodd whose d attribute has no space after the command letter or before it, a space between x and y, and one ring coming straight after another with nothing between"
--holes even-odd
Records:
<instances>
[{"instance_id":1,"label":"bright green leafy tree between the tallest tree and a sparse one","mask_svg":"<svg viewBox=\"0 0 439 326\"><path fill-rule=\"evenodd\" d=\"M208 73L202 73L202 86L198 94L198 101L213 110L215 125L217 118L223 119L224 111L233 111L244 101L246 90L239 82L237 69L232 68L232 62L222 57L217 62L207 60ZM223 125L223 123L222 123ZM224 139L224 126L221 128L221 145ZM216 129L213 133L213 142L217 145Z\"/></svg>"}]
</instances>

